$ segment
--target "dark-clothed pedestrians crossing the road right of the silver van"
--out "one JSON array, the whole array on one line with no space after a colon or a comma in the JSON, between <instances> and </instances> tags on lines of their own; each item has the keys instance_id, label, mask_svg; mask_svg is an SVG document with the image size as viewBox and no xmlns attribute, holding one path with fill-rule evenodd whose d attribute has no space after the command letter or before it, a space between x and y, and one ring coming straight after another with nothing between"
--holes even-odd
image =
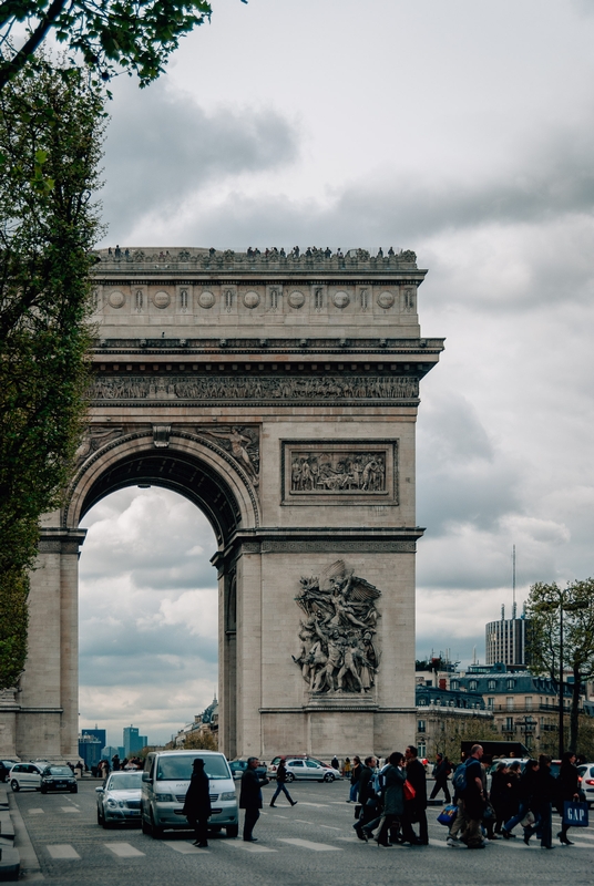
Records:
<instances>
[{"instance_id":1,"label":"dark-clothed pedestrians crossing the road right of the silver van","mask_svg":"<svg viewBox=\"0 0 594 886\"><path fill-rule=\"evenodd\" d=\"M440 791L444 794L447 805L442 815L450 822L447 845L482 849L490 841L515 838L513 831L520 826L526 846L535 834L542 848L553 848L553 808L559 810L563 822L564 802L576 802L581 797L575 754L564 754L556 779L551 772L551 758L546 754L529 760L524 769L519 760L511 764L502 761L492 774L490 790L487 780L489 766L483 765L482 759L483 749L475 744L468 759L454 771L448 758L438 754L431 799ZM336 758L332 765L335 763L338 767ZM268 783L268 779L258 776L257 766L257 759L252 758L242 777L239 807L245 810L243 837L247 842L256 839L253 831L263 805L262 787ZM452 772L453 805L448 782ZM352 760L346 758L342 774L349 781L347 803L357 804L354 827L360 841L375 839L383 848L398 844L429 844L427 774L414 745L409 745L403 754L395 751L383 765L373 755L363 761L358 755ZM275 806L281 792L291 806L296 804L285 782L286 770L281 762L270 806ZM562 844L572 846L569 830L569 824L562 824L556 836Z\"/></svg>"}]
</instances>

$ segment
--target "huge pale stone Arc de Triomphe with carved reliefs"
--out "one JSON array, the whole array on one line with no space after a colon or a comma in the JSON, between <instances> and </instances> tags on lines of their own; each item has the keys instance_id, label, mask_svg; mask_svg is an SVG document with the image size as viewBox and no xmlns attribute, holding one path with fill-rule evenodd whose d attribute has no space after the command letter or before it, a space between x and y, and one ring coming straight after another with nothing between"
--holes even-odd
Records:
<instances>
[{"instance_id":1,"label":"huge pale stone Arc de Triomphe with carved reliefs","mask_svg":"<svg viewBox=\"0 0 594 886\"><path fill-rule=\"evenodd\" d=\"M41 530L4 744L78 755L81 526L103 496L153 484L194 502L216 535L222 750L403 746L423 532L414 423L443 347L421 338L414 253L100 257L90 424Z\"/></svg>"}]
</instances>

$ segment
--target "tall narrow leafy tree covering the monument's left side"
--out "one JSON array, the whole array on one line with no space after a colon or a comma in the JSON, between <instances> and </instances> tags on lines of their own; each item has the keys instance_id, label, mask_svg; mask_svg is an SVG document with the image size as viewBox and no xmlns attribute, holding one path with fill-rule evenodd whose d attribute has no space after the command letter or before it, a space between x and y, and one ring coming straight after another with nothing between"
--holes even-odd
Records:
<instances>
[{"instance_id":1,"label":"tall narrow leafy tree covering the monument's left side","mask_svg":"<svg viewBox=\"0 0 594 886\"><path fill-rule=\"evenodd\" d=\"M0 92L0 688L27 653L28 570L85 418L104 96L43 59Z\"/></svg>"}]
</instances>

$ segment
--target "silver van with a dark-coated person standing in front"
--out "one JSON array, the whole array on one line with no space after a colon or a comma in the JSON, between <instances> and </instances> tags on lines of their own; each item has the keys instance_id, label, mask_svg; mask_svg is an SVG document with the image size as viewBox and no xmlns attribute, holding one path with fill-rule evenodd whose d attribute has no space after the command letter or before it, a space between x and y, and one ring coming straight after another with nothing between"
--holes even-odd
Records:
<instances>
[{"instance_id":1,"label":"silver van with a dark-coated person standing in front","mask_svg":"<svg viewBox=\"0 0 594 886\"><path fill-rule=\"evenodd\" d=\"M160 837L165 828L188 830L182 807L196 758L204 760L204 771L208 775L213 807L208 828L225 827L228 837L237 836L239 813L235 784L225 755L217 751L153 751L147 755L142 773L143 834Z\"/></svg>"}]
</instances>

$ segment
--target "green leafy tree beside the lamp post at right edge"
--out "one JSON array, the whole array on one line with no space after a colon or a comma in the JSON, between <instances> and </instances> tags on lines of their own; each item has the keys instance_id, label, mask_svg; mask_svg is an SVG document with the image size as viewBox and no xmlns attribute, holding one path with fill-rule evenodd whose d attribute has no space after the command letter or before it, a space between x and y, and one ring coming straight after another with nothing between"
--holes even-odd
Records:
<instances>
[{"instance_id":1,"label":"green leafy tree beside the lamp post at right edge","mask_svg":"<svg viewBox=\"0 0 594 886\"><path fill-rule=\"evenodd\" d=\"M531 619L528 649L530 669L534 673L549 674L557 684L560 664L573 674L570 750L575 751L580 728L580 696L584 681L594 674L594 578L569 583L564 590L556 583L546 585L539 581L532 585L526 615Z\"/></svg>"}]
</instances>

